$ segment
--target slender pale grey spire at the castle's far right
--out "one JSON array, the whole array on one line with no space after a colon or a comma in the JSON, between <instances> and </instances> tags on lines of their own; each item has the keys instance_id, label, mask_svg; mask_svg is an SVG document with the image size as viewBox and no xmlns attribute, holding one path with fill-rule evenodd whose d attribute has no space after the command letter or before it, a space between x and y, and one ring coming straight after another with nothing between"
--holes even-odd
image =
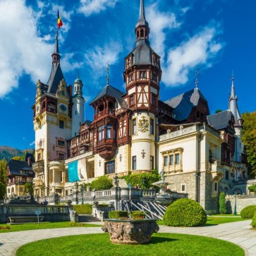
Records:
<instances>
[{"instance_id":1,"label":"slender pale grey spire at the castle's far right","mask_svg":"<svg viewBox=\"0 0 256 256\"><path fill-rule=\"evenodd\" d=\"M228 108L235 118L235 126L243 127L243 119L241 118L238 110L238 97L236 96L233 72L231 77L231 95L229 97Z\"/></svg>"}]
</instances>

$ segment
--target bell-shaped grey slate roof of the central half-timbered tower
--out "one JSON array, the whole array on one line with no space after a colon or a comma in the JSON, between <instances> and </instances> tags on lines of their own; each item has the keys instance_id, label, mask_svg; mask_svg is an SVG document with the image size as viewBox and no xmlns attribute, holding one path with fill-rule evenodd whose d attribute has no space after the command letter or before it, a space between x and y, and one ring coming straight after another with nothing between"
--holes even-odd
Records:
<instances>
[{"instance_id":1,"label":"bell-shaped grey slate roof of the central half-timbered tower","mask_svg":"<svg viewBox=\"0 0 256 256\"><path fill-rule=\"evenodd\" d=\"M153 49L150 47L150 42L147 39L140 39L136 42L133 53L134 65L152 65ZM154 52L154 54L156 54Z\"/></svg>"}]
</instances>

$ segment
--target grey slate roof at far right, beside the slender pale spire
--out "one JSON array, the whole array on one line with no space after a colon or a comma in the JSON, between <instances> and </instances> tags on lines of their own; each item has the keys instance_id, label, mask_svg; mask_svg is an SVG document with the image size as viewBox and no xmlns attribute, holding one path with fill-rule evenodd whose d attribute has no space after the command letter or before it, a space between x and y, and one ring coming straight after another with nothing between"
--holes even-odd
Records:
<instances>
[{"instance_id":1,"label":"grey slate roof at far right, beside the slender pale spire","mask_svg":"<svg viewBox=\"0 0 256 256\"><path fill-rule=\"evenodd\" d=\"M219 113L207 116L207 122L210 126L216 130L223 130L228 127L229 121L231 121L233 114L228 109Z\"/></svg>"}]
</instances>

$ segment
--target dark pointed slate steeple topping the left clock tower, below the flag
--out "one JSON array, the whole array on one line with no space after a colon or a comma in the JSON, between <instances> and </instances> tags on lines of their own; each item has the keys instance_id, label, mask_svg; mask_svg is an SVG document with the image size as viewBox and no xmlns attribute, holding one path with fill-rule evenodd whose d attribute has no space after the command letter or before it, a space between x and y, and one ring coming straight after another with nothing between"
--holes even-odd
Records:
<instances>
[{"instance_id":1,"label":"dark pointed slate steeple topping the left clock tower, below the flag","mask_svg":"<svg viewBox=\"0 0 256 256\"><path fill-rule=\"evenodd\" d=\"M61 55L59 54L58 31L56 31L54 53L51 54L51 58L51 75L47 82L47 85L49 86L47 92L55 94L58 89L59 82L64 79L61 71Z\"/></svg>"}]
</instances>

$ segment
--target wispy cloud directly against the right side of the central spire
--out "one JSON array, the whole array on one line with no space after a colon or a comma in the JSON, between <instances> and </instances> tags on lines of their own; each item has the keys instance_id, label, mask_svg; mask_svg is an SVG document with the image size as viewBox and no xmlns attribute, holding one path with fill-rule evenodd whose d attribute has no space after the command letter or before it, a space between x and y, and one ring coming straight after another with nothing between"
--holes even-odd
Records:
<instances>
[{"instance_id":1,"label":"wispy cloud directly against the right side of the central spire","mask_svg":"<svg viewBox=\"0 0 256 256\"><path fill-rule=\"evenodd\" d=\"M164 59L166 32L172 28L179 28L181 23L178 23L174 13L160 12L157 4L152 4L147 8L147 20L150 23L150 42L152 48L162 59Z\"/></svg>"}]
</instances>

